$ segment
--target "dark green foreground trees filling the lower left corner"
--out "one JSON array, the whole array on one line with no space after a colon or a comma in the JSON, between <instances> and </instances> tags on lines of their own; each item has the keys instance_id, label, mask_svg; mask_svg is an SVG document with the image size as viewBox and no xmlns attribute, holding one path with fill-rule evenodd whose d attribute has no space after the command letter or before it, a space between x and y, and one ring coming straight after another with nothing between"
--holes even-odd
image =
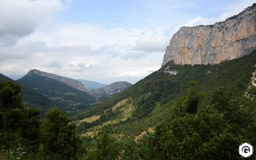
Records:
<instances>
[{"instance_id":1,"label":"dark green foreground trees filling the lower left corner","mask_svg":"<svg viewBox=\"0 0 256 160\"><path fill-rule=\"evenodd\" d=\"M78 159L76 126L60 109L40 110L22 103L20 85L0 81L0 159Z\"/></svg>"}]
</instances>

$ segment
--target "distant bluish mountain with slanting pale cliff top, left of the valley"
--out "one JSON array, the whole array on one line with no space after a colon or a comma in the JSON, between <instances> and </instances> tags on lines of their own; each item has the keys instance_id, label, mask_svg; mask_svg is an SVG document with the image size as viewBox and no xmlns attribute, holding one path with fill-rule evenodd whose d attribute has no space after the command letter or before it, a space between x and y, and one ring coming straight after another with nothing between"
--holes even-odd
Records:
<instances>
[{"instance_id":1,"label":"distant bluish mountain with slanting pale cliff top, left of the valley","mask_svg":"<svg viewBox=\"0 0 256 160\"><path fill-rule=\"evenodd\" d=\"M94 102L94 98L86 92L84 85L75 79L61 77L40 70L30 70L26 76L17 80L22 85L24 101L32 103L34 93L31 90L44 95L51 100L54 106L68 113L76 112ZM74 87L73 87L74 86ZM79 90L78 90L79 89ZM42 103L45 100L42 100ZM47 100L46 100L47 102ZM43 105L43 104L42 104Z\"/></svg>"}]
</instances>

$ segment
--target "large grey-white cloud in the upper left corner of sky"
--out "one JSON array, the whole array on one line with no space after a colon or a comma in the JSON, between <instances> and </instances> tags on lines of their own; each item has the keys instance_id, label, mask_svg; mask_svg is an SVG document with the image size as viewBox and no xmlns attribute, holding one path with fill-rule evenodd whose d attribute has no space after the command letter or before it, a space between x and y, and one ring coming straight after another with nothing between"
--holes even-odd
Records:
<instances>
[{"instance_id":1,"label":"large grey-white cloud in the upper left corner of sky","mask_svg":"<svg viewBox=\"0 0 256 160\"><path fill-rule=\"evenodd\" d=\"M57 0L8 0L0 1L0 47L10 46L28 36L43 20L63 8Z\"/></svg>"}]
</instances>

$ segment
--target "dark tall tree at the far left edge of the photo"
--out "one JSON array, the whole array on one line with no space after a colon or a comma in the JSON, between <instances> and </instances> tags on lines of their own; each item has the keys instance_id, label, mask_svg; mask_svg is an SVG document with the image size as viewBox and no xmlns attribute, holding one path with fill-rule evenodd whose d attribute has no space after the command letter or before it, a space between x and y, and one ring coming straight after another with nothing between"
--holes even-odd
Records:
<instances>
[{"instance_id":1,"label":"dark tall tree at the far left edge of the photo","mask_svg":"<svg viewBox=\"0 0 256 160\"><path fill-rule=\"evenodd\" d=\"M33 148L30 153L35 152L40 141L39 114L40 109L22 103L19 84L0 81L0 143L4 149L15 150L22 145L23 152L28 148Z\"/></svg>"}]
</instances>

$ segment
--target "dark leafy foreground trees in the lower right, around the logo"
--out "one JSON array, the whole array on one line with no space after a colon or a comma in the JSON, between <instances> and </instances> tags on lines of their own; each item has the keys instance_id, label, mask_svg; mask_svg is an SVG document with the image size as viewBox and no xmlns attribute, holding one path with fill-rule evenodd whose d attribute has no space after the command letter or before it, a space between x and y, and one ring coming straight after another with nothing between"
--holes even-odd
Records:
<instances>
[{"instance_id":1,"label":"dark leafy foreground trees in the lower right, around the logo","mask_svg":"<svg viewBox=\"0 0 256 160\"><path fill-rule=\"evenodd\" d=\"M195 114L186 111L183 116L173 110L173 119L157 126L155 134L141 142L147 145L142 150L150 150L150 155L143 155L143 159L241 158L239 145L256 142L256 101L232 98L227 88L220 87L204 110ZM189 97L184 102L186 108L188 100ZM180 104L175 106L179 107Z\"/></svg>"}]
</instances>

